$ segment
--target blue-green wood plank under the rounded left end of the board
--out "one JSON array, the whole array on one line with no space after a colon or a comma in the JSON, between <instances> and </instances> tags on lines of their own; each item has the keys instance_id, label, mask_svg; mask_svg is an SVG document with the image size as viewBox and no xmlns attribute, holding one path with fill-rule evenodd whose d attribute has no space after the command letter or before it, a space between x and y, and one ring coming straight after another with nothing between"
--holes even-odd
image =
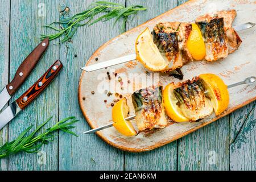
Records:
<instances>
[{"instance_id":1,"label":"blue-green wood plank under the rounded left end of the board","mask_svg":"<svg viewBox=\"0 0 256 182\"><path fill-rule=\"evenodd\" d=\"M94 1L61 1L61 9L66 6L71 15L79 13ZM124 0L113 1L125 5ZM94 51L109 39L119 34L117 23L114 20L98 22L91 27L81 27L73 37L73 41L60 46L60 60L64 64L64 72L60 75L60 118L75 115L80 122L74 130L79 138L60 132L59 139L59 169L60 170L122 170L123 152L105 142L97 135L83 135L82 131L89 130L85 118L79 108L77 88L81 71L86 60ZM77 57L75 56L77 55ZM88 84L90 84L88 82ZM97 90L94 90L97 92ZM85 100L86 102L86 100ZM102 103L104 103L102 101Z\"/></svg>"}]
</instances>

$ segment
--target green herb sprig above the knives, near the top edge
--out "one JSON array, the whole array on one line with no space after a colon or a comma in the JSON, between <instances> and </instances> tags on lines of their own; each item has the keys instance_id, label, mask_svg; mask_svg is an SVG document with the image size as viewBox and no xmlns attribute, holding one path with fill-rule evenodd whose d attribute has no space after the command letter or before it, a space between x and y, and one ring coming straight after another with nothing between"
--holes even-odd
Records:
<instances>
[{"instance_id":1,"label":"green herb sprig above the knives, near the top edge","mask_svg":"<svg viewBox=\"0 0 256 182\"><path fill-rule=\"evenodd\" d=\"M75 35L77 28L81 26L91 26L94 23L99 21L106 22L110 19L115 18L115 23L122 18L123 23L121 26L121 32L125 31L125 24L127 22L129 15L135 15L138 11L147 10L145 7L140 5L125 7L118 3L106 2L106 1L98 1L96 3L92 3L87 10L78 13L71 18L67 18L61 20L59 22L52 22L45 27L51 28L56 31L55 34L42 35L41 39L49 38L49 40L60 38L64 36L63 39L60 40L61 43L67 42L69 39ZM99 18L94 19L94 17L98 14L103 14ZM53 24L60 24L60 28L56 28Z\"/></svg>"}]
</instances>

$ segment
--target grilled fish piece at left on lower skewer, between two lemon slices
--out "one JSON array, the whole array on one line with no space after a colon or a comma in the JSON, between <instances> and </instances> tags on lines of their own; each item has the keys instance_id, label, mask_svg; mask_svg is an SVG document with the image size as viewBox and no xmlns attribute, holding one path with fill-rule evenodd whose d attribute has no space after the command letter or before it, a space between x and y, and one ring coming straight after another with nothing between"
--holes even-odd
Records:
<instances>
[{"instance_id":1,"label":"grilled fish piece at left on lower skewer, between two lemon slices","mask_svg":"<svg viewBox=\"0 0 256 182\"><path fill-rule=\"evenodd\" d=\"M162 86L149 87L138 90L131 96L139 131L166 127L162 89Z\"/></svg>"}]
</instances>

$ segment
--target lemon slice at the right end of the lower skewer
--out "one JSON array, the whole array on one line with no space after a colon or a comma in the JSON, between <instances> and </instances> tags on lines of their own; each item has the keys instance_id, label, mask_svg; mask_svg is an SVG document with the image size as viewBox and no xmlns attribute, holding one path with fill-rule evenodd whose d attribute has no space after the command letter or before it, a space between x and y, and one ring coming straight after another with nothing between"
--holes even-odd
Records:
<instances>
[{"instance_id":1,"label":"lemon slice at the right end of the lower skewer","mask_svg":"<svg viewBox=\"0 0 256 182\"><path fill-rule=\"evenodd\" d=\"M221 114L229 105L228 86L214 74L201 74L199 77L204 82L205 94L210 97L215 114Z\"/></svg>"}]
</instances>

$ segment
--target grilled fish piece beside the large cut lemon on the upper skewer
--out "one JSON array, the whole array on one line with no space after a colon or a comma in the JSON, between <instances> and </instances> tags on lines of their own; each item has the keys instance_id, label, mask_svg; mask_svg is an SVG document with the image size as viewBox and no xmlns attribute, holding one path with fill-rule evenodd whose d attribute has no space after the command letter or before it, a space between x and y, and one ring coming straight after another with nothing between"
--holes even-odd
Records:
<instances>
[{"instance_id":1,"label":"grilled fish piece beside the large cut lemon on the upper skewer","mask_svg":"<svg viewBox=\"0 0 256 182\"><path fill-rule=\"evenodd\" d=\"M163 57L169 61L164 72L181 68L192 56L187 49L187 40L192 26L190 23L166 22L158 23L153 30L154 43Z\"/></svg>"}]
</instances>

